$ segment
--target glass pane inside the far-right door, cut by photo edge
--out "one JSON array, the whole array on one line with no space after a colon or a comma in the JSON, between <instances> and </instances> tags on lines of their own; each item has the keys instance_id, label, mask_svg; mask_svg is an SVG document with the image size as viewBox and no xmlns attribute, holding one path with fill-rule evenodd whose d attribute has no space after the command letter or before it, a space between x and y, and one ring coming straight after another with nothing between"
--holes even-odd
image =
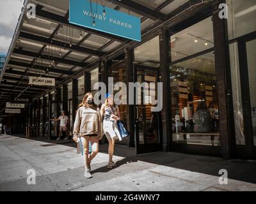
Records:
<instances>
[{"instance_id":1,"label":"glass pane inside the far-right door, cut by photo edge","mask_svg":"<svg viewBox=\"0 0 256 204\"><path fill-rule=\"evenodd\" d=\"M250 87L250 101L252 108L252 130L253 141L256 146L256 40L246 43L247 62L248 62L248 76Z\"/></svg>"}]
</instances>

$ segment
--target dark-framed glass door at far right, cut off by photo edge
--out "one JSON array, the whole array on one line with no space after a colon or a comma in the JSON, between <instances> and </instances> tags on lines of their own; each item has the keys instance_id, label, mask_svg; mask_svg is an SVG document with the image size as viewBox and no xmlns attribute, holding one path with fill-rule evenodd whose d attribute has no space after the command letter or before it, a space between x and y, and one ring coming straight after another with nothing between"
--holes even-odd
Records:
<instances>
[{"instance_id":1,"label":"dark-framed glass door at far right, cut off by photo edge","mask_svg":"<svg viewBox=\"0 0 256 204\"><path fill-rule=\"evenodd\" d=\"M256 34L249 34L237 41L245 157L256 158Z\"/></svg>"}]
</instances>

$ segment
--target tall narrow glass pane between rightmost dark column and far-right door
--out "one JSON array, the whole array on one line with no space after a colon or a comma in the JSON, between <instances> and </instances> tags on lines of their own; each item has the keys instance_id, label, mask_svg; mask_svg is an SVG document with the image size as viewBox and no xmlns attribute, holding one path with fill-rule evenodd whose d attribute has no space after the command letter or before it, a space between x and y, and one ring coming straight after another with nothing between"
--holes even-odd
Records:
<instances>
[{"instance_id":1,"label":"tall narrow glass pane between rightmost dark column and far-right door","mask_svg":"<svg viewBox=\"0 0 256 204\"><path fill-rule=\"evenodd\" d=\"M233 43L229 45L229 52L230 52L230 69L231 69L231 80L232 80L236 144L245 145L243 105L242 105L242 96L241 96L241 82L240 82L237 43Z\"/></svg>"}]
</instances>

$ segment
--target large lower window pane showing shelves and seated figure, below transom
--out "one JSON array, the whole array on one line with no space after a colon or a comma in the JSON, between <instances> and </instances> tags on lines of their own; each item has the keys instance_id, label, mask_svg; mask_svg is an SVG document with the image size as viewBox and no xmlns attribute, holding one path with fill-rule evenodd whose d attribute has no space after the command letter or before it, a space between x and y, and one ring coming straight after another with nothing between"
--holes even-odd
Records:
<instances>
[{"instance_id":1,"label":"large lower window pane showing shelves and seated figure, below transom","mask_svg":"<svg viewBox=\"0 0 256 204\"><path fill-rule=\"evenodd\" d=\"M170 67L173 142L220 145L214 54Z\"/></svg>"}]
</instances>

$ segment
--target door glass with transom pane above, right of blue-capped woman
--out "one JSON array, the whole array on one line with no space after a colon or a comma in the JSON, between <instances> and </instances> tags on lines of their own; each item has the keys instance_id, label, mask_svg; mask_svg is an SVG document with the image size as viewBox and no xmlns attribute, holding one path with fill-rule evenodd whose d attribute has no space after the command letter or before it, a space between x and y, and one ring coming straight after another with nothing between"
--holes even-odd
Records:
<instances>
[{"instance_id":1,"label":"door glass with transom pane above, right of blue-capped woman","mask_svg":"<svg viewBox=\"0 0 256 204\"><path fill-rule=\"evenodd\" d=\"M139 47L134 48L135 81L140 84L154 84L148 91L138 91L141 103L136 106L136 137L139 145L152 145L161 142L161 112L153 112L152 99L157 99L157 82L160 81L160 48L159 36L148 40Z\"/></svg>"}]
</instances>

